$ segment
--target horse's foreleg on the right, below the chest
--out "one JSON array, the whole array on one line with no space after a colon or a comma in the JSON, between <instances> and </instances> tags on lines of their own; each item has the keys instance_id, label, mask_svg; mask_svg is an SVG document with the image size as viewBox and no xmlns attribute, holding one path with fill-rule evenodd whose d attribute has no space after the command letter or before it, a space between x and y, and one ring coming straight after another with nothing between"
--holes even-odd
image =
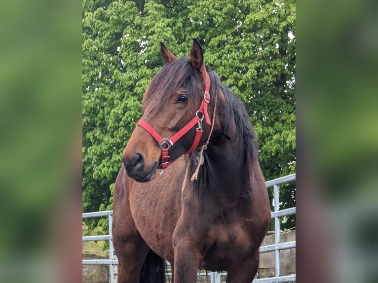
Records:
<instances>
[{"instance_id":1,"label":"horse's foreleg on the right, below the chest","mask_svg":"<svg viewBox=\"0 0 378 283\"><path fill-rule=\"evenodd\" d=\"M227 270L226 283L251 283L259 268L260 252L257 250L243 262Z\"/></svg>"}]
</instances>

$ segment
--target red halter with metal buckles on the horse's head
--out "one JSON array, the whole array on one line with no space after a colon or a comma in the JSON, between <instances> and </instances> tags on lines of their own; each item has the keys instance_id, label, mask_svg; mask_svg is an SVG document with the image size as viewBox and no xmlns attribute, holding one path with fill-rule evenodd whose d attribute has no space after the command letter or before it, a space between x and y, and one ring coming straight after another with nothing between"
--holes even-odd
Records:
<instances>
[{"instance_id":1,"label":"red halter with metal buckles on the horse's head","mask_svg":"<svg viewBox=\"0 0 378 283\"><path fill-rule=\"evenodd\" d=\"M139 120L137 125L141 126L143 129L145 129L151 136L154 138L157 143L159 144L162 154L161 154L161 164L158 166L158 169L165 169L169 167L175 160L168 161L170 156L168 155L169 148L178 140L180 140L186 133L192 129L195 124L198 123L197 132L195 134L195 138L193 141L193 144L190 146L187 153L191 153L194 151L194 149L198 146L199 140L202 136L202 120L205 118L205 121L207 124L211 125L209 113L207 111L207 106L210 102L210 77L207 71L205 71L206 76L206 86L205 86L205 93L203 95L203 99L201 102L201 105L199 106L198 111L195 113L195 116L193 119L189 121L188 124L186 124L180 131L178 131L176 134L174 134L170 139L162 138L156 131L144 120ZM202 117L200 118L198 115L202 114Z\"/></svg>"}]
</instances>

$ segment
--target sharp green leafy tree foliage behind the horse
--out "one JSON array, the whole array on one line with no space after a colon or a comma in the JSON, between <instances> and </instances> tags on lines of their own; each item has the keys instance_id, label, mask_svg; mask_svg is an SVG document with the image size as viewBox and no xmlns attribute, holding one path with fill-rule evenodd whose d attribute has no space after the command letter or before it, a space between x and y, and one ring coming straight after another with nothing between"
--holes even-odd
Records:
<instances>
[{"instance_id":1,"label":"sharp green leafy tree foliage behind the horse","mask_svg":"<svg viewBox=\"0 0 378 283\"><path fill-rule=\"evenodd\" d=\"M265 179L295 173L295 12L294 0L83 0L83 211L112 209L122 150L162 66L159 41L181 57L196 37L245 103ZM281 200L295 205L295 185Z\"/></svg>"}]
</instances>

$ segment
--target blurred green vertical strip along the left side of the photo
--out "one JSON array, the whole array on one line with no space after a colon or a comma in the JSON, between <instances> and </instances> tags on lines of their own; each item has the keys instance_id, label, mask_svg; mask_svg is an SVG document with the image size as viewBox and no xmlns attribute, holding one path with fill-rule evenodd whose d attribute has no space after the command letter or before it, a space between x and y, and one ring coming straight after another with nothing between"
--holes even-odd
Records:
<instances>
[{"instance_id":1,"label":"blurred green vertical strip along the left side of the photo","mask_svg":"<svg viewBox=\"0 0 378 283\"><path fill-rule=\"evenodd\" d=\"M80 125L81 2L2 2L1 282L66 281L54 271L58 261L69 265L54 251L58 236L78 249L71 261L80 279L81 245L67 236L81 233Z\"/></svg>"}]
</instances>

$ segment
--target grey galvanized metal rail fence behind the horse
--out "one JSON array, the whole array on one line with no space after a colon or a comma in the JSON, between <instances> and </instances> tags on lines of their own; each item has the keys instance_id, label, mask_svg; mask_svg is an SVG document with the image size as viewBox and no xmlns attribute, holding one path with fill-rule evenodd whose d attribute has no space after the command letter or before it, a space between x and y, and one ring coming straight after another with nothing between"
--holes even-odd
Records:
<instances>
[{"instance_id":1,"label":"grey galvanized metal rail fence behind the horse","mask_svg":"<svg viewBox=\"0 0 378 283\"><path fill-rule=\"evenodd\" d=\"M295 248L296 241L280 243L280 221L279 217L289 216L296 214L296 208L289 208L285 210L279 210L279 185L295 181L296 175L292 174L285 177L280 177L266 182L266 187L273 187L274 194L274 212L271 213L271 218L274 218L274 239L275 244L260 247L260 252L275 251L275 277L255 279L254 283L285 283L296 282L296 275L280 276L280 250ZM103 236L84 236L82 241L109 241L109 259L83 259L82 264L102 264L109 265L109 282L114 283L114 265L118 265L118 260L114 254L113 239L112 239L112 219L113 211L104 212L89 212L83 213L82 218L94 218L108 216L109 221L109 234ZM168 262L167 262L168 263ZM168 263L169 264L169 263ZM171 274L169 274L171 275ZM200 273L199 275L206 275ZM220 283L221 276L226 276L227 273L210 272L210 283Z\"/></svg>"}]
</instances>

